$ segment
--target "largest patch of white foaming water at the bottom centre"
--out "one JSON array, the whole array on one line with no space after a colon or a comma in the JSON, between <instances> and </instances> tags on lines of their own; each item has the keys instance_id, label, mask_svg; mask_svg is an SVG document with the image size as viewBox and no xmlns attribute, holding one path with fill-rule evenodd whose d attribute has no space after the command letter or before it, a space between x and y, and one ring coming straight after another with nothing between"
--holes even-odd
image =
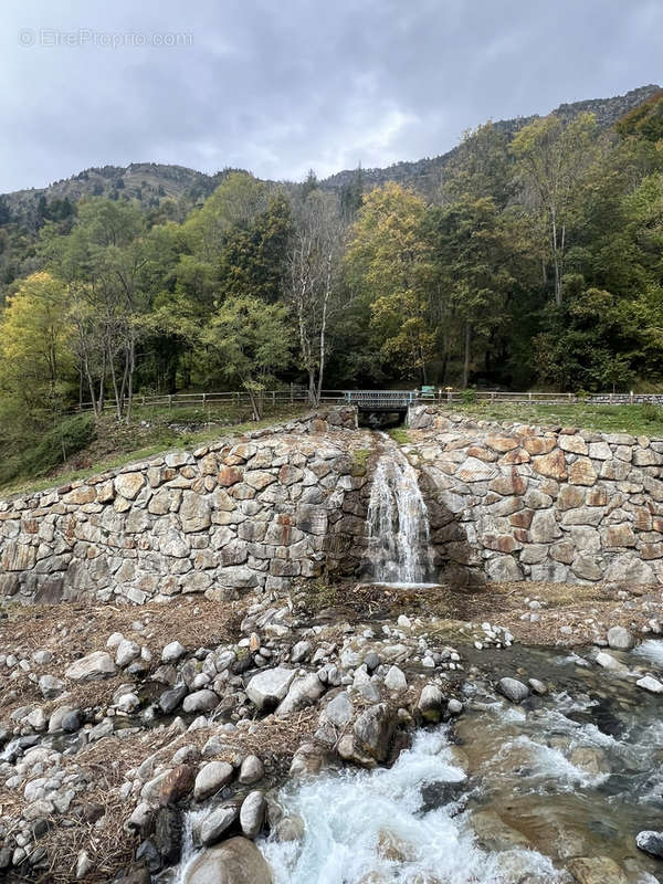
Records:
<instances>
[{"instance_id":1,"label":"largest patch of white foaming water at the bottom centre","mask_svg":"<svg viewBox=\"0 0 663 884\"><path fill-rule=\"evenodd\" d=\"M505 856L475 844L471 817L444 807L422 812L427 782L461 782L443 730L419 733L390 769L327 774L280 793L286 814L305 825L301 842L261 842L275 884L506 884ZM380 845L397 845L394 853ZM509 853L514 853L511 851ZM523 876L555 884L561 877L535 851L517 851Z\"/></svg>"}]
</instances>

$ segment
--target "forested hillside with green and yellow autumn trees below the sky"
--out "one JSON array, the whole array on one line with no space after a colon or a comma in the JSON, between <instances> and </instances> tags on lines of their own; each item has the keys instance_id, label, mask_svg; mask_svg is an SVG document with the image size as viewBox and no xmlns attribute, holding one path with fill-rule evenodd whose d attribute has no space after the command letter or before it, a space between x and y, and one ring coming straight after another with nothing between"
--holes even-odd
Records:
<instances>
[{"instance_id":1,"label":"forested hillside with green and yellow autumn trees below the sky","mask_svg":"<svg viewBox=\"0 0 663 884\"><path fill-rule=\"evenodd\" d=\"M488 123L406 166L302 185L106 167L36 210L4 198L0 445L81 401L130 420L136 391L243 388L259 415L292 381L314 403L663 383L661 91Z\"/></svg>"}]
</instances>

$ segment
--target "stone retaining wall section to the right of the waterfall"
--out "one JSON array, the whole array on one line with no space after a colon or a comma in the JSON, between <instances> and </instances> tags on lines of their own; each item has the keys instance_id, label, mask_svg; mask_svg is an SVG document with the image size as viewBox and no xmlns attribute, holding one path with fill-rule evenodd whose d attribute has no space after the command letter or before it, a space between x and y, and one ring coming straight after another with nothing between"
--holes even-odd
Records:
<instances>
[{"instance_id":1,"label":"stone retaining wall section to the right of the waterfall","mask_svg":"<svg viewBox=\"0 0 663 884\"><path fill-rule=\"evenodd\" d=\"M663 582L663 440L411 409L439 565L465 580Z\"/></svg>"}]
</instances>

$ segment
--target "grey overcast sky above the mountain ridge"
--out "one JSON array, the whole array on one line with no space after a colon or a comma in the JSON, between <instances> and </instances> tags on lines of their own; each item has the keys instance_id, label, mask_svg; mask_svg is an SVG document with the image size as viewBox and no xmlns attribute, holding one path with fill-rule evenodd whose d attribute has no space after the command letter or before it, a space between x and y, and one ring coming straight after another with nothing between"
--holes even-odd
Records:
<instances>
[{"instance_id":1,"label":"grey overcast sky above the mountain ridge","mask_svg":"<svg viewBox=\"0 0 663 884\"><path fill-rule=\"evenodd\" d=\"M0 192L141 161L324 177L663 82L662 0L2 0L0 15Z\"/></svg>"}]
</instances>

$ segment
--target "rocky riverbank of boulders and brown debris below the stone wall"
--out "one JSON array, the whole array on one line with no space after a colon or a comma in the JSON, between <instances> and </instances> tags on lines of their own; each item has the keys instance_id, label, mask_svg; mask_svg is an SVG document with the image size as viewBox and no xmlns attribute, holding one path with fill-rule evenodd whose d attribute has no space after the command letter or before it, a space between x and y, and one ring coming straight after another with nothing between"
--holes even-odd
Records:
<instances>
[{"instance_id":1,"label":"rocky riverbank of boulders and brown debris below the stone wall","mask_svg":"<svg viewBox=\"0 0 663 884\"><path fill-rule=\"evenodd\" d=\"M660 590L591 590L569 599L545 585L471 594L308 583L224 604L9 608L0 867L8 881L193 884L208 880L202 870L270 881L253 841L302 836L276 787L329 768L389 767L418 728L440 722L472 755L462 723L476 684L525 705L552 688L532 661L514 667L520 640L591 641L581 659L597 678L660 702ZM631 650L642 639L649 656ZM641 828L651 829L644 817ZM656 851L655 836L635 846L636 834L635 853ZM181 867L188 839L200 853ZM589 884L603 860L562 865Z\"/></svg>"}]
</instances>

